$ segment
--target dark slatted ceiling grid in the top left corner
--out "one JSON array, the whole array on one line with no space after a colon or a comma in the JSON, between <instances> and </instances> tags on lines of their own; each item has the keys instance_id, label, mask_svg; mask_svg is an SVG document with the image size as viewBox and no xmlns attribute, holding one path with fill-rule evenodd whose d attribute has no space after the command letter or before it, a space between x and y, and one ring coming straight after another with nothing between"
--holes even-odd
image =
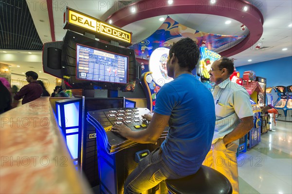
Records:
<instances>
[{"instance_id":1,"label":"dark slatted ceiling grid in the top left corner","mask_svg":"<svg viewBox=\"0 0 292 194\"><path fill-rule=\"evenodd\" d=\"M0 0L0 49L42 50L25 0Z\"/></svg>"}]
</instances>

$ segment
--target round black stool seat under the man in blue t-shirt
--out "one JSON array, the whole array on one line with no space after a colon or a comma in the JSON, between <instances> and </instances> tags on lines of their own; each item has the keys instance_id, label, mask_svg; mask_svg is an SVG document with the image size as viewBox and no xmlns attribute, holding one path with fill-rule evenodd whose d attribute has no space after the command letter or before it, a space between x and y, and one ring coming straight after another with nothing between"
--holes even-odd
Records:
<instances>
[{"instance_id":1,"label":"round black stool seat under the man in blue t-shirt","mask_svg":"<svg viewBox=\"0 0 292 194\"><path fill-rule=\"evenodd\" d=\"M166 179L169 194L232 194L229 180L208 166L202 165L198 172L180 179Z\"/></svg>"}]
</instances>

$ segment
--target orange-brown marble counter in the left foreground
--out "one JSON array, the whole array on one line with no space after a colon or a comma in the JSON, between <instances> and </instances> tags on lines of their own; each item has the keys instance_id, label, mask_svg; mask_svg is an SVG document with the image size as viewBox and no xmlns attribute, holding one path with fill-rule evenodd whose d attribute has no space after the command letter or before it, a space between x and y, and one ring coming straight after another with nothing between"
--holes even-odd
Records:
<instances>
[{"instance_id":1,"label":"orange-brown marble counter in the left foreground","mask_svg":"<svg viewBox=\"0 0 292 194\"><path fill-rule=\"evenodd\" d=\"M1 194L85 194L49 97L0 114Z\"/></svg>"}]
</instances>

